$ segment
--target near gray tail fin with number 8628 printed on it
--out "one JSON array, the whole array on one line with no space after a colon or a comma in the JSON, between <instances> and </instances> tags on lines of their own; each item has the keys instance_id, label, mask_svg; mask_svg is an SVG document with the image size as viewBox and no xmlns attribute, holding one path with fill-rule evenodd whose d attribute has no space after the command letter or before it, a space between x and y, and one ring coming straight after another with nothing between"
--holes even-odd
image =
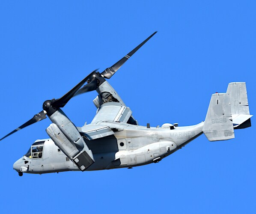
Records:
<instances>
[{"instance_id":1,"label":"near gray tail fin with number 8628 printed on it","mask_svg":"<svg viewBox=\"0 0 256 214\"><path fill-rule=\"evenodd\" d=\"M229 95L227 93L213 94L202 131L209 141L235 138L231 119Z\"/></svg>"}]
</instances>

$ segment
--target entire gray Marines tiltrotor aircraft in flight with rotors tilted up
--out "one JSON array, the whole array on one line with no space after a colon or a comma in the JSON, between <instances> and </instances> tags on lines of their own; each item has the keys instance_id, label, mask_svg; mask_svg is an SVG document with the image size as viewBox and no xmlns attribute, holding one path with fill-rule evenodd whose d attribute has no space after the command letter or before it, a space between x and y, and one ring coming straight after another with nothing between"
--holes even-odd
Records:
<instances>
[{"instance_id":1,"label":"entire gray Marines tiltrotor aircraft in flight with rotors tilted up","mask_svg":"<svg viewBox=\"0 0 256 214\"><path fill-rule=\"evenodd\" d=\"M234 129L251 126L245 82L229 83L226 93L211 95L205 121L197 125L139 125L131 109L106 79L155 33L110 68L101 73L92 71L63 97L45 101L40 113L5 136L45 119L46 115L52 122L46 129L50 138L36 140L13 164L20 176L23 172L92 171L158 163L202 133L209 141L229 140L235 137ZM76 127L61 108L72 97L94 90L98 92L93 100L96 115L90 124Z\"/></svg>"}]
</instances>

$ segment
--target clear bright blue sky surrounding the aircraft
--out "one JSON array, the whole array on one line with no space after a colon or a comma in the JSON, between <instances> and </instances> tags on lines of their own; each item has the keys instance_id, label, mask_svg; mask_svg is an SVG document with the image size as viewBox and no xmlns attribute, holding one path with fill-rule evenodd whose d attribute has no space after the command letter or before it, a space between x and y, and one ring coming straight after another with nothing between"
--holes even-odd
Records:
<instances>
[{"instance_id":1,"label":"clear bright blue sky surrounding the aircraft","mask_svg":"<svg viewBox=\"0 0 256 214\"><path fill-rule=\"evenodd\" d=\"M211 94L247 82L255 114L255 1L1 1L1 135L96 68L113 65L158 33L109 80L140 125L205 119ZM82 126L96 92L63 109ZM204 135L157 164L22 177L12 164L49 119L0 142L0 212L255 213L255 126L235 139Z\"/></svg>"}]
</instances>

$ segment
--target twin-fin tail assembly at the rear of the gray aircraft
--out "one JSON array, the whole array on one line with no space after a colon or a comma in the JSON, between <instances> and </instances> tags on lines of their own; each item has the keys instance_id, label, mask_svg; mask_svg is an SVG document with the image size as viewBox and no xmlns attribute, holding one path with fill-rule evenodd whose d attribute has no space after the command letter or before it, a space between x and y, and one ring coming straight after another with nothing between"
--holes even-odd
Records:
<instances>
[{"instance_id":1,"label":"twin-fin tail assembly at the rear of the gray aircraft","mask_svg":"<svg viewBox=\"0 0 256 214\"><path fill-rule=\"evenodd\" d=\"M211 95L203 125L209 141L229 140L235 137L234 129L251 126L246 84L229 83L226 93Z\"/></svg>"}]
</instances>

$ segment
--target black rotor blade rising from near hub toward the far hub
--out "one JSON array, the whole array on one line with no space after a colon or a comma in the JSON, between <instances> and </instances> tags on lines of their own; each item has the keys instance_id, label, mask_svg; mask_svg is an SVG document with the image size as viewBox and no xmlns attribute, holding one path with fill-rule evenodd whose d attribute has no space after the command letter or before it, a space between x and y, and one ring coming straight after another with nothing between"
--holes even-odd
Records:
<instances>
[{"instance_id":1,"label":"black rotor blade rising from near hub toward the far hub","mask_svg":"<svg viewBox=\"0 0 256 214\"><path fill-rule=\"evenodd\" d=\"M87 77L85 77L80 83L78 83L76 86L74 86L73 89L71 89L68 93L66 93L65 95L63 95L61 98L54 100L51 103L52 107L56 107L56 108L61 108L64 107L65 104L67 104L67 102L74 96L74 94L78 91L78 89L80 89L80 87L86 82L86 80L88 80L89 78L91 78L93 76L93 74L95 74L95 72L98 69L92 71L92 73L90 73Z\"/></svg>"}]
</instances>

